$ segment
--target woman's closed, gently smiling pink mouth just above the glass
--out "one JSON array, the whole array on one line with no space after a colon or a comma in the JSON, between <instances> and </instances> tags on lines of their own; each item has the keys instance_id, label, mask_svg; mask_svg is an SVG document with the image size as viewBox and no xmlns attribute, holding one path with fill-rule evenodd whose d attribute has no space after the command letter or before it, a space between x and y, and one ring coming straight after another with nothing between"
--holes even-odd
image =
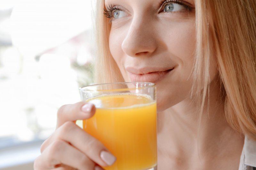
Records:
<instances>
[{"instance_id":1,"label":"woman's closed, gently smiling pink mouth just above the glass","mask_svg":"<svg viewBox=\"0 0 256 170\"><path fill-rule=\"evenodd\" d=\"M172 70L173 68L166 71L149 72L147 74L135 74L131 72L129 72L129 74L131 81L156 83L157 81L162 80Z\"/></svg>"}]
</instances>

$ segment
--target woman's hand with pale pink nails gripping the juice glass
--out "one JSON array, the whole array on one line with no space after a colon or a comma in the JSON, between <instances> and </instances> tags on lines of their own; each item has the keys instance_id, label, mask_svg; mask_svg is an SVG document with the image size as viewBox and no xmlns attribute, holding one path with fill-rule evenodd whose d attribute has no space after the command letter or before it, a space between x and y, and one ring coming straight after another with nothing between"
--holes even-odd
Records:
<instances>
[{"instance_id":1,"label":"woman's hand with pale pink nails gripping the juice glass","mask_svg":"<svg viewBox=\"0 0 256 170\"><path fill-rule=\"evenodd\" d=\"M85 102L62 106L56 131L42 144L34 169L100 170L100 166L112 165L116 158L108 149L75 124L76 120L92 117L95 110L94 105Z\"/></svg>"}]
</instances>

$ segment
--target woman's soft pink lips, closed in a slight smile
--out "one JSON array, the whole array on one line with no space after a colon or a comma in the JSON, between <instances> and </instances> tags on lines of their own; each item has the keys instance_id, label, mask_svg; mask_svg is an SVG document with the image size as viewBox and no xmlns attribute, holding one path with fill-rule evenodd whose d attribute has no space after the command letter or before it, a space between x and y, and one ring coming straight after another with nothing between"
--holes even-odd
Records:
<instances>
[{"instance_id":1,"label":"woman's soft pink lips, closed in a slight smile","mask_svg":"<svg viewBox=\"0 0 256 170\"><path fill-rule=\"evenodd\" d=\"M141 69L146 70L146 69ZM169 74L173 69L167 69L165 71L146 71L146 74L143 74L143 71L137 70L137 69L127 69L131 81L137 81L137 82L157 82L163 79L167 74ZM156 69L151 69L156 70ZM158 69L161 70L161 69ZM145 71L144 71L145 72ZM141 74L138 74L141 73Z\"/></svg>"}]
</instances>

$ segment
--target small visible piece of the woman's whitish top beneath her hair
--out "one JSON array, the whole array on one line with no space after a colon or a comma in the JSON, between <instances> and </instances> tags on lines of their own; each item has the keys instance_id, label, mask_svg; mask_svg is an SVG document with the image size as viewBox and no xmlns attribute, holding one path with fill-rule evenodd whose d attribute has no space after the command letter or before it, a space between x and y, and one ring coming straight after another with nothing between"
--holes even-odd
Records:
<instances>
[{"instance_id":1,"label":"small visible piece of the woman's whitish top beneath her hair","mask_svg":"<svg viewBox=\"0 0 256 170\"><path fill-rule=\"evenodd\" d=\"M256 170L256 141L246 136L238 170Z\"/></svg>"}]
</instances>

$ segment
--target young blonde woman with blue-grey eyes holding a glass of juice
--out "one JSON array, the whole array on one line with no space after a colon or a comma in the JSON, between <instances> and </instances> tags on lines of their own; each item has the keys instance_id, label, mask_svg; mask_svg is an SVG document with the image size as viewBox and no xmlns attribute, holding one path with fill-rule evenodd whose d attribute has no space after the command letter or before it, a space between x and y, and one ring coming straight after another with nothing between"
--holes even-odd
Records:
<instances>
[{"instance_id":1,"label":"young blonde woman with blue-grey eyes holding a glass of juice","mask_svg":"<svg viewBox=\"0 0 256 170\"><path fill-rule=\"evenodd\" d=\"M157 85L158 164L256 167L256 1L99 0L97 83ZM101 169L116 158L73 121L93 105L62 106L35 160L41 169Z\"/></svg>"}]
</instances>

